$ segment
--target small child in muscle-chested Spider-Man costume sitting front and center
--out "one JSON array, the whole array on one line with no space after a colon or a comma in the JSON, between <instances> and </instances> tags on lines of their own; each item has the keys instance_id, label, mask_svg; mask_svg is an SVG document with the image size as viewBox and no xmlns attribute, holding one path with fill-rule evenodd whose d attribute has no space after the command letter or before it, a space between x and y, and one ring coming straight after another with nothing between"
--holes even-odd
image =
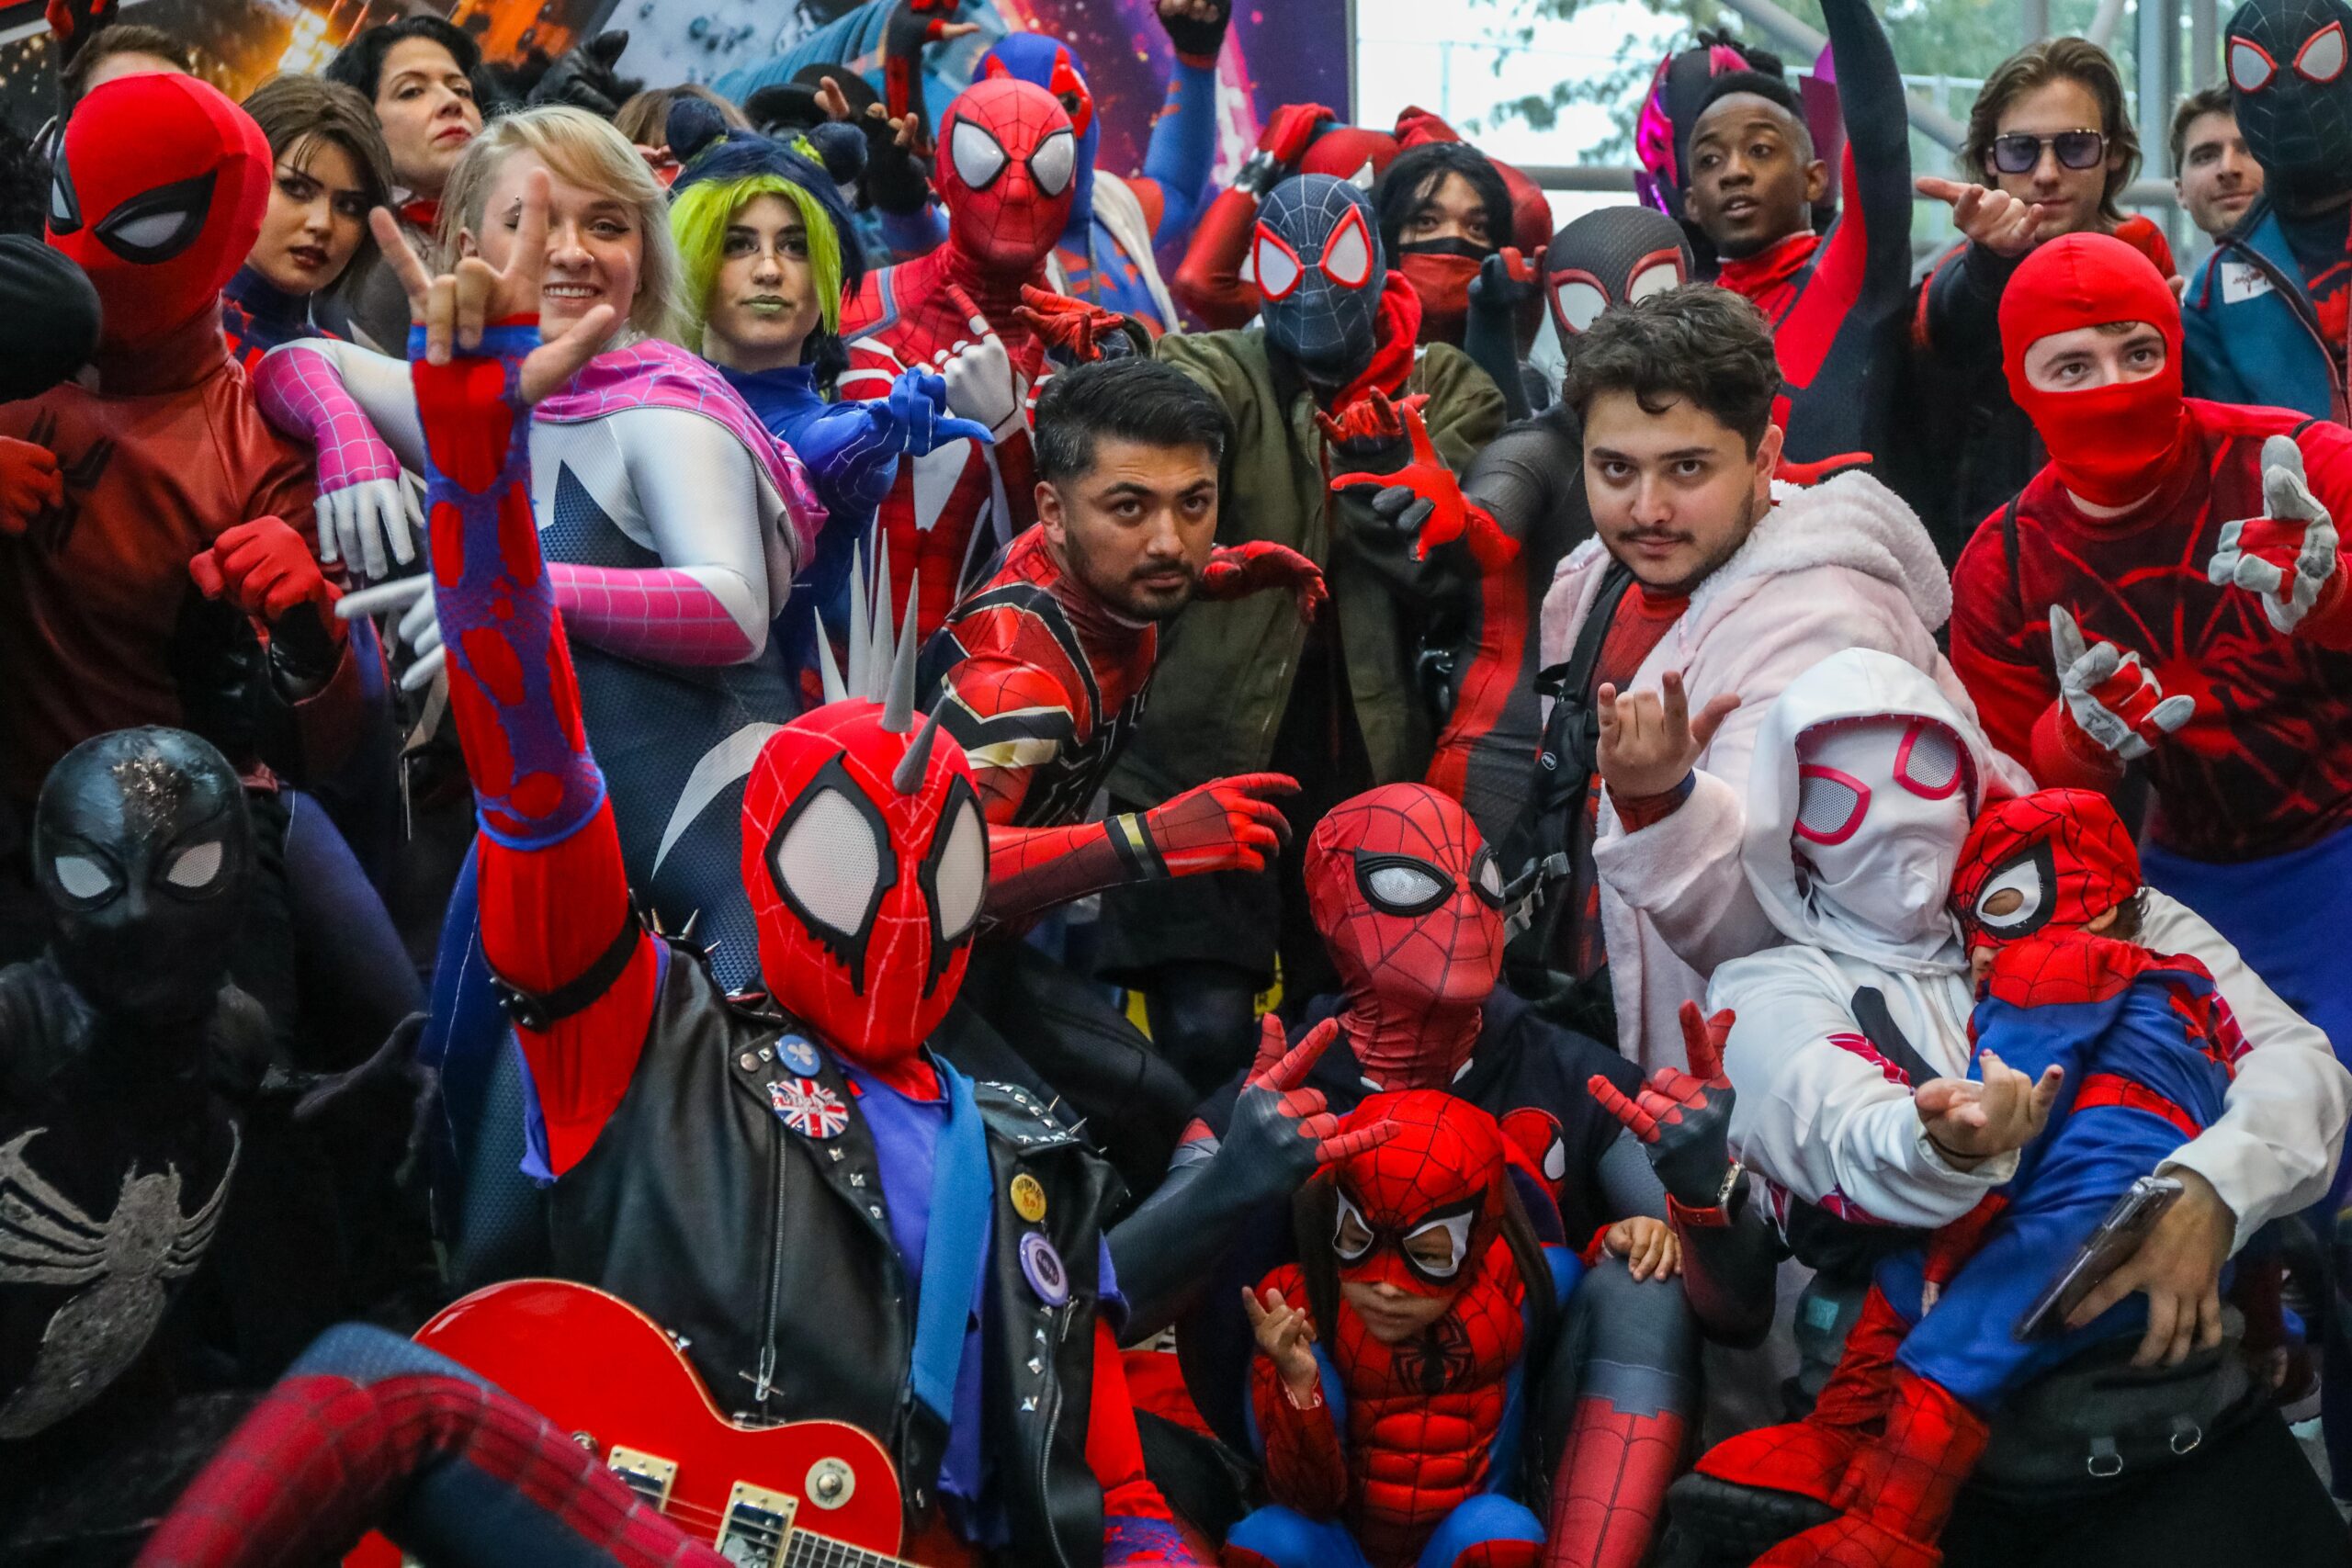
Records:
<instances>
[{"instance_id":1,"label":"small child in muscle-chested Spider-Man costume sitting front and center","mask_svg":"<svg viewBox=\"0 0 2352 1568\"><path fill-rule=\"evenodd\" d=\"M1251 1425L1275 1497L1228 1568L1534 1568L1510 1497L1522 1373L1581 1265L1515 1199L1503 1126L1437 1088L1371 1095L1397 1133L1298 1197L1303 1262L1249 1295ZM1319 1326L1319 1328L1317 1328Z\"/></svg>"}]
</instances>

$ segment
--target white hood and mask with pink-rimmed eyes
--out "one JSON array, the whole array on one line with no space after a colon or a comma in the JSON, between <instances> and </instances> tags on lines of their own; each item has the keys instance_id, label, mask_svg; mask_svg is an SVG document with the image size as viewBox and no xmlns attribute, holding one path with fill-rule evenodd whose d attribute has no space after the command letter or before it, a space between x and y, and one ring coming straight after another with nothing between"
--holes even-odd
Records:
<instances>
[{"instance_id":1,"label":"white hood and mask with pink-rimmed eyes","mask_svg":"<svg viewBox=\"0 0 2352 1568\"><path fill-rule=\"evenodd\" d=\"M2006 766L1936 682L1875 649L1792 679L1757 729L1740 865L1792 943L1903 973L1969 966L1947 898Z\"/></svg>"}]
</instances>

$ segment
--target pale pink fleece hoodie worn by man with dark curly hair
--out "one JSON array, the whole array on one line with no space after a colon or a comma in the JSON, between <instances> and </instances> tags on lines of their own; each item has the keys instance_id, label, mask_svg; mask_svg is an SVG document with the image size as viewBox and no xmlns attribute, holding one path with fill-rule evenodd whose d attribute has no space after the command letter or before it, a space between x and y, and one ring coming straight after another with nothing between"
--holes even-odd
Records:
<instances>
[{"instance_id":1,"label":"pale pink fleece hoodie worn by man with dark curly hair","mask_svg":"<svg viewBox=\"0 0 2352 1568\"><path fill-rule=\"evenodd\" d=\"M1543 597L1543 663L1576 646L1606 571L1599 538L1559 562ZM1679 670L1691 712L1726 691L1740 698L1672 816L1625 832L1602 797L1592 865L1618 1048L1644 1072L1684 1065L1675 1016L1705 994L1717 964L1780 940L1740 875L1748 759L1764 710L1830 654L1879 649L1931 675L1976 729L1976 705L1936 649L1950 616L1952 581L1926 529L1884 484L1846 473L1809 489L1773 484L1773 508L1748 543L1642 661L1630 691L1658 691ZM2009 759L1997 766L2009 788L2032 788Z\"/></svg>"}]
</instances>

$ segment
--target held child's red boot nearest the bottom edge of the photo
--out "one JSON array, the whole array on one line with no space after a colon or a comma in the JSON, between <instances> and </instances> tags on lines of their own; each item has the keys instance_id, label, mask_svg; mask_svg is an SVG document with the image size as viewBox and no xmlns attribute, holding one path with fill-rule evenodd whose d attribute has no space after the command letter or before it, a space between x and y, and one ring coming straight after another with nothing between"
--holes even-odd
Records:
<instances>
[{"instance_id":1,"label":"held child's red boot nearest the bottom edge of the photo","mask_svg":"<svg viewBox=\"0 0 2352 1568\"><path fill-rule=\"evenodd\" d=\"M1886 1432L1837 1486L1830 1523L1792 1535L1755 1568L1940 1568L1936 1540L1985 1453L1985 1418L1940 1382L1898 1371Z\"/></svg>"}]
</instances>

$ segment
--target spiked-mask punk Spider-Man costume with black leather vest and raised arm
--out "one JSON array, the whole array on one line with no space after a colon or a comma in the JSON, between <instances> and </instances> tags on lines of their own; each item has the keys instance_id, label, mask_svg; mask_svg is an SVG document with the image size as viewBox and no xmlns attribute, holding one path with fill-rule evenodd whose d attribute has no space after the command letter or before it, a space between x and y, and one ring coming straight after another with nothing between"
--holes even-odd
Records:
<instances>
[{"instance_id":1,"label":"spiked-mask punk Spider-Man costume with black leather vest and raised arm","mask_svg":"<svg viewBox=\"0 0 2352 1568\"><path fill-rule=\"evenodd\" d=\"M499 324L487 360L433 367L419 331L412 376L482 947L532 1070L557 1269L682 1333L748 1413L875 1432L913 1526L993 1526L1018 1561L1192 1561L1143 1479L1103 1319L1105 1171L1035 1100L924 1048L988 842L962 752L936 722L915 733L913 625L896 661L887 616L856 649L887 708L816 708L753 762L741 872L774 997L736 1006L630 907L532 527L517 367L536 339Z\"/></svg>"}]
</instances>

